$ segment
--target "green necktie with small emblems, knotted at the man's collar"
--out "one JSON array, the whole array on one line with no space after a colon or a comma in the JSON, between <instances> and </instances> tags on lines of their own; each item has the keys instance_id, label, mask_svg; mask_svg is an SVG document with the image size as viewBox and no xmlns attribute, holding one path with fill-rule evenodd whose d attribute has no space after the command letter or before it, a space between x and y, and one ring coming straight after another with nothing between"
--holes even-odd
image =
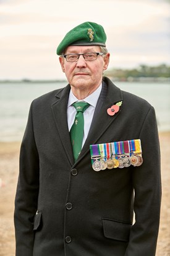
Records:
<instances>
[{"instance_id":1,"label":"green necktie with small emblems, knotted at the man's collar","mask_svg":"<svg viewBox=\"0 0 170 256\"><path fill-rule=\"evenodd\" d=\"M72 143L72 150L74 160L76 161L82 150L83 134L84 134L84 117L83 112L90 106L88 103L74 103L77 113L75 115L74 123L70 129L70 139Z\"/></svg>"}]
</instances>

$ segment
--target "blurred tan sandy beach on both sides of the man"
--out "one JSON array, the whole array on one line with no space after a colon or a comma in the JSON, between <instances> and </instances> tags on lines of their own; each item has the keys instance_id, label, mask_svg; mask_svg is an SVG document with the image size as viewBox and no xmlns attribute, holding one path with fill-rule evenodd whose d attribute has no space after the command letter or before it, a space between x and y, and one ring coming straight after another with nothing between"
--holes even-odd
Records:
<instances>
[{"instance_id":1,"label":"blurred tan sandy beach on both sides of the man","mask_svg":"<svg viewBox=\"0 0 170 256\"><path fill-rule=\"evenodd\" d=\"M163 196L156 256L170 256L170 132L159 133L159 140ZM0 142L0 256L15 255L13 214L19 150L20 142Z\"/></svg>"}]
</instances>

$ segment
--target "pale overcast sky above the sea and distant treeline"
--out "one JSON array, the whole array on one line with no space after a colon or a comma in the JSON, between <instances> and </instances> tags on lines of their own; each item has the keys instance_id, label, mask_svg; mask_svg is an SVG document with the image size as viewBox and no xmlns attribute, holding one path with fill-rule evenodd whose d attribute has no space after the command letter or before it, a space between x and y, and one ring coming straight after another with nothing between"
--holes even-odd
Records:
<instances>
[{"instance_id":1,"label":"pale overcast sky above the sea and distant treeline","mask_svg":"<svg viewBox=\"0 0 170 256\"><path fill-rule=\"evenodd\" d=\"M166 0L0 0L0 80L62 79L57 45L76 25L103 25L109 68L170 65Z\"/></svg>"}]
</instances>

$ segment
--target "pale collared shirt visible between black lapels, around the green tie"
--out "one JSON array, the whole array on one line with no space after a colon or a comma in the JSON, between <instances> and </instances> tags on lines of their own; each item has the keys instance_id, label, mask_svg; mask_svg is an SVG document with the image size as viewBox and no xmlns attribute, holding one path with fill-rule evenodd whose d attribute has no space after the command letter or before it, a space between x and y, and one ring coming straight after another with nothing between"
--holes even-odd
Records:
<instances>
[{"instance_id":1,"label":"pale collared shirt visible between black lapels, around the green tie","mask_svg":"<svg viewBox=\"0 0 170 256\"><path fill-rule=\"evenodd\" d=\"M83 112L83 117L84 117L84 135L83 135L83 143L82 143L82 147L85 143L85 140L87 139L87 135L88 132L90 130L90 126L91 126L91 121L93 119L93 114L95 112L95 107L98 101L98 98L100 96L101 93L101 88L102 85L100 85L96 91L94 91L93 93L91 93L90 95L87 96L87 98L85 99L77 99L74 94L72 93L72 89L70 89L70 94L69 94L69 101L67 104L67 122L68 122L68 127L69 127L69 132L70 129L72 127L72 124L74 123L74 119L75 119L75 114L76 114L76 110L75 107L72 106L73 103L75 102L79 102L79 101L85 101L86 103L90 104L90 106L85 110L85 112Z\"/></svg>"}]
</instances>

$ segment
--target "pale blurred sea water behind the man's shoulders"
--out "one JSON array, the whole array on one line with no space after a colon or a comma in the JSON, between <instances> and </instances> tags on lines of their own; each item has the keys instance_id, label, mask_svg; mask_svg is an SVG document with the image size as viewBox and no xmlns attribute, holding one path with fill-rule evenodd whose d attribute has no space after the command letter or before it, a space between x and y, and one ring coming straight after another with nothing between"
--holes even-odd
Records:
<instances>
[{"instance_id":1,"label":"pale blurred sea water behind the man's shoulders","mask_svg":"<svg viewBox=\"0 0 170 256\"><path fill-rule=\"evenodd\" d=\"M124 91L146 99L155 107L158 130L170 130L170 85L168 83L117 81L114 84ZM66 85L66 81L0 83L0 141L21 140L33 99ZM132 103L129 102L129 104Z\"/></svg>"}]
</instances>

